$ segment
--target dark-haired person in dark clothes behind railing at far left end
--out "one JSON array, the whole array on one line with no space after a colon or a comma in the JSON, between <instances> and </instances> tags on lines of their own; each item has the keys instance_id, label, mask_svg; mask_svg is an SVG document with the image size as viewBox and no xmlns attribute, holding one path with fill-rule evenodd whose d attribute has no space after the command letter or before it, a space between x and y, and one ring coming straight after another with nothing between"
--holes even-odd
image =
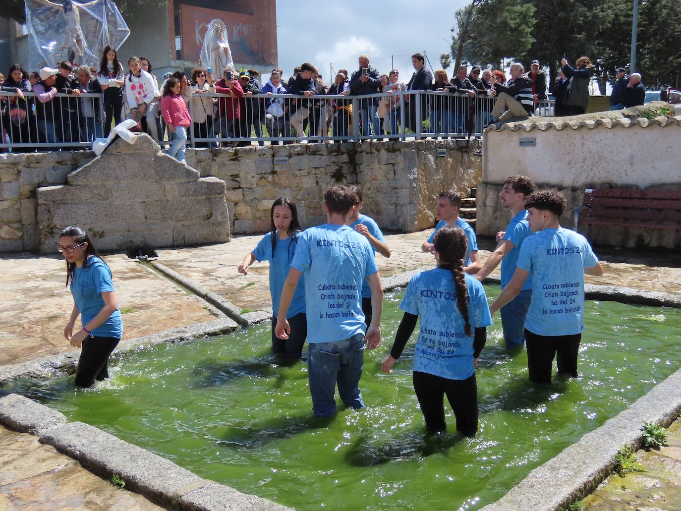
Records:
<instances>
[{"instance_id":1,"label":"dark-haired person in dark clothes behind railing at far left end","mask_svg":"<svg viewBox=\"0 0 681 511\"><path fill-rule=\"evenodd\" d=\"M16 96L7 99L7 106L2 119L2 126L10 136L10 142L15 144L37 142L31 140L29 124L31 123L30 104L24 96L31 92L31 82L28 74L18 64L12 64L7 73L7 80L1 86L3 92L14 92Z\"/></svg>"}]
</instances>

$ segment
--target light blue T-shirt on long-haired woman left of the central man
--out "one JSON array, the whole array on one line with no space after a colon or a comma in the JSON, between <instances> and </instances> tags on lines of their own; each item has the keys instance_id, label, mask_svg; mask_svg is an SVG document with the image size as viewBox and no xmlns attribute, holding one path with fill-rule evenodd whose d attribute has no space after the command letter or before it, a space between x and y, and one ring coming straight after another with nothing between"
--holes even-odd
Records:
<instances>
[{"instance_id":1,"label":"light blue T-shirt on long-haired woman left of the central man","mask_svg":"<svg viewBox=\"0 0 681 511\"><path fill-rule=\"evenodd\" d=\"M268 232L253 250L255 259L270 262L270 294L272 295L272 313L275 318L279 313L281 290L284 287L286 276L289 275L291 261L294 260L294 253L296 253L296 241L300 240L300 234L300 232L296 232L294 236L289 236L285 240L277 239L274 255L272 255L272 232ZM305 312L305 281L302 276L298 281L298 287L294 293L294 299L291 300L286 318L293 318L294 315L301 312Z\"/></svg>"}]
</instances>

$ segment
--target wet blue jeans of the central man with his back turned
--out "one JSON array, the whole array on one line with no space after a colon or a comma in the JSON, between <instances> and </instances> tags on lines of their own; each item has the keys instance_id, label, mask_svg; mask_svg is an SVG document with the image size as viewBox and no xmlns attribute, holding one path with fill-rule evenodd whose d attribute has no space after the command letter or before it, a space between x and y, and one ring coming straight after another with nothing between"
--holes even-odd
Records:
<instances>
[{"instance_id":1,"label":"wet blue jeans of the central man with his back turned","mask_svg":"<svg viewBox=\"0 0 681 511\"><path fill-rule=\"evenodd\" d=\"M317 417L336 413L334 393L351 408L363 408L360 377L364 367L364 334L334 343L308 342L307 374L312 409Z\"/></svg>"}]
</instances>

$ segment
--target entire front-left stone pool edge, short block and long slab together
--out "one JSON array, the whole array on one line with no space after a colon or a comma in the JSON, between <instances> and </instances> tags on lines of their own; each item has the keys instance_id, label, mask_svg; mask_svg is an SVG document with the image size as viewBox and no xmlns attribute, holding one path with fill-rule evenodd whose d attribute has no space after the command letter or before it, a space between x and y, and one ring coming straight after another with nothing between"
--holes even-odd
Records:
<instances>
[{"instance_id":1,"label":"entire front-left stone pool edge, short block and long slab together","mask_svg":"<svg viewBox=\"0 0 681 511\"><path fill-rule=\"evenodd\" d=\"M200 478L163 456L84 422L67 422L61 412L19 394L0 397L0 423L8 429L36 435L41 444L70 456L104 480L118 474L125 480L126 489L159 506L183 511L291 509Z\"/></svg>"}]
</instances>

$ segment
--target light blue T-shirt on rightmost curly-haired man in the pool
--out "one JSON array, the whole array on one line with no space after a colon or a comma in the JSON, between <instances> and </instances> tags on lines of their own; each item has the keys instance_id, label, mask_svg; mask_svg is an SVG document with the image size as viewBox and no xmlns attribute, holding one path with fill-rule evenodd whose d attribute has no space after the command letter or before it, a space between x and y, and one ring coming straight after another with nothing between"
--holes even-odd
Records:
<instances>
[{"instance_id":1,"label":"light blue T-shirt on rightmost curly-haired man in the pool","mask_svg":"<svg viewBox=\"0 0 681 511\"><path fill-rule=\"evenodd\" d=\"M525 328L537 335L575 335L584 330L584 268L598 264L582 234L545 229L528 236L518 266L532 276Z\"/></svg>"}]
</instances>

